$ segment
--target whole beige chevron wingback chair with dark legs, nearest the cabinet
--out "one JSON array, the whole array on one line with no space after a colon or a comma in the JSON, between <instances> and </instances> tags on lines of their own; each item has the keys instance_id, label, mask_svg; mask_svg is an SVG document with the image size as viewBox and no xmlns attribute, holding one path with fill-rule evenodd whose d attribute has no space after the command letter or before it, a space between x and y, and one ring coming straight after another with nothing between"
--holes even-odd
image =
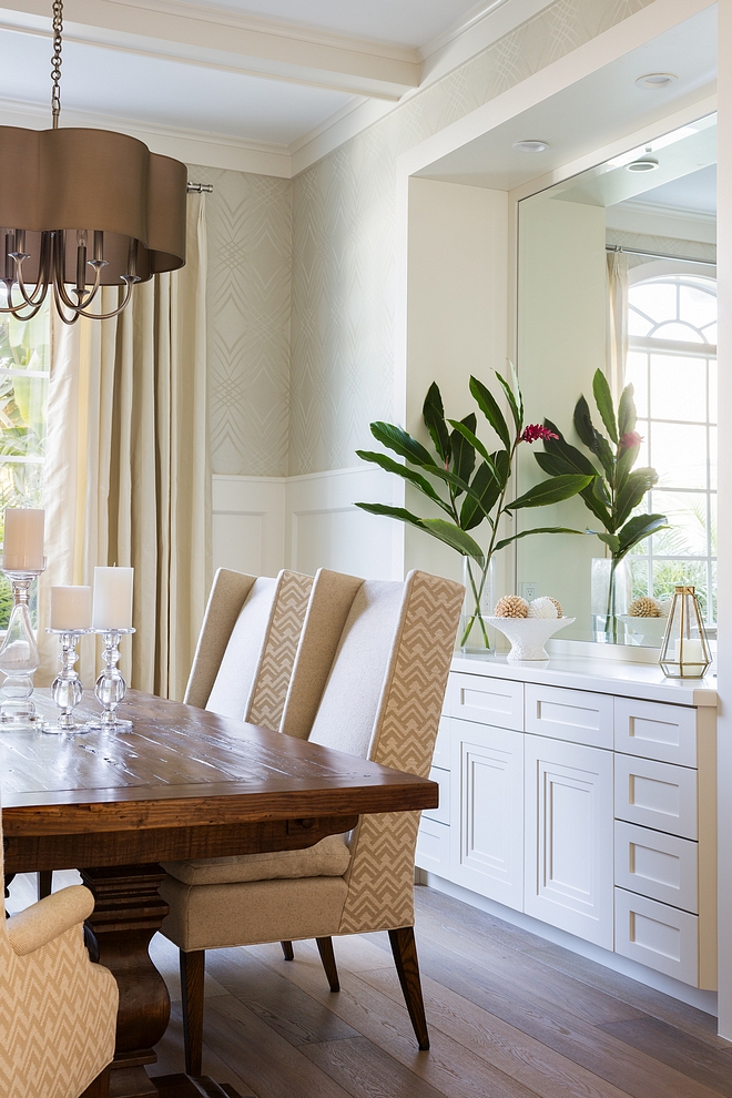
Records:
<instances>
[{"instance_id":1,"label":"whole beige chevron wingback chair with dark legs, nearest the cabinet","mask_svg":"<svg viewBox=\"0 0 732 1098\"><path fill-rule=\"evenodd\" d=\"M359 758L429 772L464 588L322 569L281 731ZM418 812L360 819L309 850L174 862L162 933L181 950L186 1070L201 1070L205 949L315 938L337 989L332 937L385 929L419 1047L429 1047L414 938Z\"/></svg>"}]
</instances>

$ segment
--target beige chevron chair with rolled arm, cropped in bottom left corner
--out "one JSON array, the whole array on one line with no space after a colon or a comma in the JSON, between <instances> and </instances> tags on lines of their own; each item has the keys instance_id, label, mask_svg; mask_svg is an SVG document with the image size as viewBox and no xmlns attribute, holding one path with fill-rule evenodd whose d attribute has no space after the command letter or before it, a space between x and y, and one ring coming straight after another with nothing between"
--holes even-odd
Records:
<instances>
[{"instance_id":1,"label":"beige chevron chair with rolled arm, cropped in bottom left corner","mask_svg":"<svg viewBox=\"0 0 732 1098\"><path fill-rule=\"evenodd\" d=\"M0 816L0 883L2 820ZM94 899L72 885L0 917L0 1095L106 1098L119 994L89 959L83 922Z\"/></svg>"}]
</instances>

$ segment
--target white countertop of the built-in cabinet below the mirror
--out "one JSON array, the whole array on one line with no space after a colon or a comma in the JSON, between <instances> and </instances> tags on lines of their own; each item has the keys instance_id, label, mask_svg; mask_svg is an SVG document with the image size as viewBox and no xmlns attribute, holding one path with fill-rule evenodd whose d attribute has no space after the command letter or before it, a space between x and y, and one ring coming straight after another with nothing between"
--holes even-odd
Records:
<instances>
[{"instance_id":1,"label":"white countertop of the built-in cabinet below the mirror","mask_svg":"<svg viewBox=\"0 0 732 1098\"><path fill-rule=\"evenodd\" d=\"M677 705L716 706L716 675L713 668L710 668L703 679L667 679L654 663L624 663L580 655L556 655L540 663L509 663L505 653L460 653L454 657L451 669L495 679L518 679L521 682L624 694L648 701L674 702Z\"/></svg>"}]
</instances>

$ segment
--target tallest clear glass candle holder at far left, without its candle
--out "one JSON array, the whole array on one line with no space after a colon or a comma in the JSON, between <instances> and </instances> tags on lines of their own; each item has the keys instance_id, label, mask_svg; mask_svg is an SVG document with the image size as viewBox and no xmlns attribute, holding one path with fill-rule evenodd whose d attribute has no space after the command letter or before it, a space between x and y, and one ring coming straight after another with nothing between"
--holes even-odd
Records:
<instances>
[{"instance_id":1,"label":"tallest clear glass candle holder at far left, without its candle","mask_svg":"<svg viewBox=\"0 0 732 1098\"><path fill-rule=\"evenodd\" d=\"M0 730L38 729L42 724L32 700L33 675L41 659L30 618L30 587L45 570L2 569L12 583L12 611L6 639L0 648L0 671L6 680L0 688Z\"/></svg>"}]
</instances>

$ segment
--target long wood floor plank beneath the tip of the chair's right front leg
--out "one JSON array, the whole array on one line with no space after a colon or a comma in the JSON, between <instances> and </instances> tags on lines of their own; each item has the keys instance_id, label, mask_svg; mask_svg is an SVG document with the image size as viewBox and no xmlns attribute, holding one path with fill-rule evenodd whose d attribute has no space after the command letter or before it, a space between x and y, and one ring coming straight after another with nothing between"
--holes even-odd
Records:
<instances>
[{"instance_id":1,"label":"long wood floor plank beneath the tip of the chair's right front leg","mask_svg":"<svg viewBox=\"0 0 732 1098\"><path fill-rule=\"evenodd\" d=\"M257 956L276 963L276 953L257 946ZM430 1049L420 1053L404 1003L394 1003L358 976L342 973L340 992L323 988L314 965L295 962L287 978L367 1037L384 1053L429 1082L447 1098L537 1098L537 1092L498 1070L450 1037L433 1029Z\"/></svg>"}]
</instances>

